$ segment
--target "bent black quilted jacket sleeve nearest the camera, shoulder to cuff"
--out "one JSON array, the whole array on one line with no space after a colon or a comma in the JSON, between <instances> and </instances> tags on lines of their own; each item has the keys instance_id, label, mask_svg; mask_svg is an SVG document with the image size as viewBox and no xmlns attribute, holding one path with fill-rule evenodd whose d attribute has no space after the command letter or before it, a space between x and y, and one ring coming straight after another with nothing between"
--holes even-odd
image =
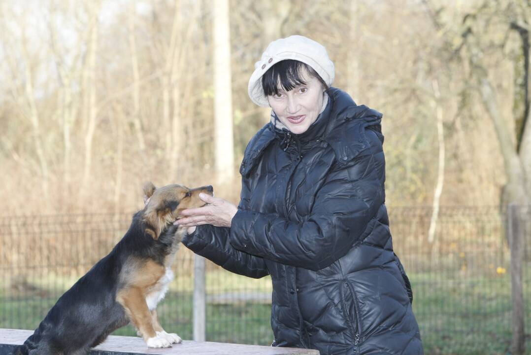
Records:
<instances>
[{"instance_id":1,"label":"bent black quilted jacket sleeve nearest the camera, shoulder to cuff","mask_svg":"<svg viewBox=\"0 0 531 355\"><path fill-rule=\"evenodd\" d=\"M384 202L383 150L378 137L370 137L372 149L346 164L334 164L304 221L239 209L230 243L238 250L314 271L345 256L361 241Z\"/></svg>"}]
</instances>

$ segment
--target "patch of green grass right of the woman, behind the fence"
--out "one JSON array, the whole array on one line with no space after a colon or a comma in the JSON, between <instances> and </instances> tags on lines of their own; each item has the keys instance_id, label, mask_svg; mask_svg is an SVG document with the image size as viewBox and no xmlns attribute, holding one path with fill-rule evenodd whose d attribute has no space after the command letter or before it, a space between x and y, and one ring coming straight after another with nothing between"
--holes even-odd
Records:
<instances>
[{"instance_id":1,"label":"patch of green grass right of the woman, behind the fence","mask_svg":"<svg viewBox=\"0 0 531 355\"><path fill-rule=\"evenodd\" d=\"M414 310L427 354L509 354L511 296L508 276L476 277L466 281L414 281L414 288ZM527 286L526 293L529 291ZM530 324L531 307L529 303L526 306L526 323ZM531 348L531 342L528 343Z\"/></svg>"}]
</instances>

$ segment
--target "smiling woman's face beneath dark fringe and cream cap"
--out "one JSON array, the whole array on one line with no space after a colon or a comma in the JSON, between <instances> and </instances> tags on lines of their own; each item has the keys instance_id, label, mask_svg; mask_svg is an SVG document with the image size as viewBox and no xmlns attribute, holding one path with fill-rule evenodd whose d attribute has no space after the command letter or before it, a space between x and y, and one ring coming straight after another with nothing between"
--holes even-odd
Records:
<instances>
[{"instance_id":1,"label":"smiling woman's face beneath dark fringe and cream cap","mask_svg":"<svg viewBox=\"0 0 531 355\"><path fill-rule=\"evenodd\" d=\"M278 119L295 134L306 132L317 120L323 105L323 85L319 79L304 71L306 84L286 91L279 88L278 94L268 96L269 105Z\"/></svg>"}]
</instances>

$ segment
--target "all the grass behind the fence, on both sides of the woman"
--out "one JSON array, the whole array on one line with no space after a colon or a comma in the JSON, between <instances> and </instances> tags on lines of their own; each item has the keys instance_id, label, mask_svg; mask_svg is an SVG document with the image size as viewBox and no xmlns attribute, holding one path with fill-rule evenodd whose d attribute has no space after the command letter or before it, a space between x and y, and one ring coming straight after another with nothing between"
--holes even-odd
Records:
<instances>
[{"instance_id":1,"label":"all the grass behind the fence, on both sides of the woman","mask_svg":"<svg viewBox=\"0 0 531 355\"><path fill-rule=\"evenodd\" d=\"M530 275L526 273L525 275ZM430 355L508 355L511 341L509 274L491 276L412 273L413 307L421 328L425 353ZM51 277L50 277L51 278ZM0 327L34 329L63 287L50 287L46 277L33 284L32 297L0 292ZM68 278L71 282L72 278ZM524 282L526 324L531 326L531 280ZM59 280L54 285L66 285ZM222 271L207 274L209 295L226 292L270 293L268 278L254 280ZM191 276L177 277L158 307L161 324L183 339L192 339ZM207 303L207 340L269 345L272 341L270 305L252 302ZM527 332L529 334L529 331ZM135 335L131 326L116 335ZM527 353L531 354L528 336Z\"/></svg>"}]
</instances>

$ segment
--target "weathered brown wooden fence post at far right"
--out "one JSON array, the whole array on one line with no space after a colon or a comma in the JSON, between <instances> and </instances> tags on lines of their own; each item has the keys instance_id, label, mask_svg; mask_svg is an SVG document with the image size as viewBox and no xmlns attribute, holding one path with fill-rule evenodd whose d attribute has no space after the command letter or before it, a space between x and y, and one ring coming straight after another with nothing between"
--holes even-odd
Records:
<instances>
[{"instance_id":1,"label":"weathered brown wooden fence post at far right","mask_svg":"<svg viewBox=\"0 0 531 355\"><path fill-rule=\"evenodd\" d=\"M524 256L524 225L520 218L518 206L509 204L507 207L507 229L509 249L511 252L511 301L512 301L512 343L511 353L524 355L524 290L522 263Z\"/></svg>"}]
</instances>

